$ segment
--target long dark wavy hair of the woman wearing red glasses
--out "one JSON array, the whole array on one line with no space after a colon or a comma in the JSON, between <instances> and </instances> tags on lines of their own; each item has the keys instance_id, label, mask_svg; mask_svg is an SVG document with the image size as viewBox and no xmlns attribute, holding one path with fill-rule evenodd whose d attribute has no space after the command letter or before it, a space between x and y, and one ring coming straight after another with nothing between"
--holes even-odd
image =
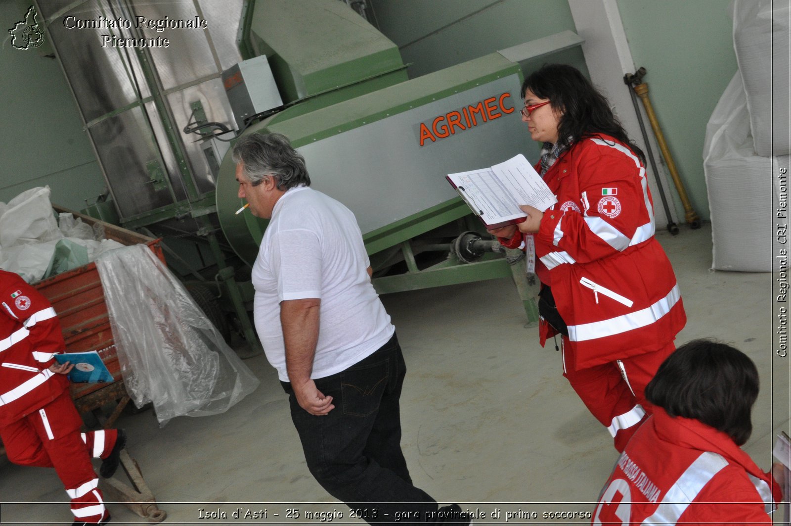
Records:
<instances>
[{"instance_id":1,"label":"long dark wavy hair of the woman wearing red glasses","mask_svg":"<svg viewBox=\"0 0 791 526\"><path fill-rule=\"evenodd\" d=\"M606 134L626 144L645 164L645 154L634 143L612 114L607 98L575 67L544 64L522 82L521 95L531 90L536 97L549 99L553 109L562 112L558 124L558 143L566 147L586 137Z\"/></svg>"}]
</instances>

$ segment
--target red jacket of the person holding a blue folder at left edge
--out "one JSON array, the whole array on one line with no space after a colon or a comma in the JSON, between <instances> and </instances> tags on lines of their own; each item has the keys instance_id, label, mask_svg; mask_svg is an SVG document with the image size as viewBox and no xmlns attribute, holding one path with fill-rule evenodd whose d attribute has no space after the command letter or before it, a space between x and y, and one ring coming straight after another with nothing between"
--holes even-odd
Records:
<instances>
[{"instance_id":1,"label":"red jacket of the person holding a blue folder at left edge","mask_svg":"<svg viewBox=\"0 0 791 526\"><path fill-rule=\"evenodd\" d=\"M66 348L55 309L17 274L0 270L0 427L40 409L69 387L48 367Z\"/></svg>"}]
</instances>

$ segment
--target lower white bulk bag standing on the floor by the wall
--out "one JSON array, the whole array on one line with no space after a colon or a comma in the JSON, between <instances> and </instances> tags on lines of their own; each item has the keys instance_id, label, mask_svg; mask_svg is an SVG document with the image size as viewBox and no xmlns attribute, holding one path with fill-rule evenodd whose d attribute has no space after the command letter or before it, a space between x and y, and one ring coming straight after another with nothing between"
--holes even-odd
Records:
<instances>
[{"instance_id":1,"label":"lower white bulk bag standing on the floor by the wall","mask_svg":"<svg viewBox=\"0 0 791 526\"><path fill-rule=\"evenodd\" d=\"M788 166L788 156L762 157L753 150L747 95L736 73L706 125L703 147L714 269L777 268L772 244L778 166Z\"/></svg>"}]
</instances>

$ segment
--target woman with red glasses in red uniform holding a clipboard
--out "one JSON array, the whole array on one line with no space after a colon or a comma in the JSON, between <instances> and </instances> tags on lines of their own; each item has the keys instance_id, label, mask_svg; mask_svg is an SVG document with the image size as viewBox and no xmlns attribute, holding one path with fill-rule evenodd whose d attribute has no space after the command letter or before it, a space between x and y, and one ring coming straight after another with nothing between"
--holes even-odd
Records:
<instances>
[{"instance_id":1,"label":"woman with red glasses in red uniform holding a clipboard","mask_svg":"<svg viewBox=\"0 0 791 526\"><path fill-rule=\"evenodd\" d=\"M558 203L545 212L525 205L524 223L490 233L535 251L541 345L562 334L563 375L623 451L650 413L645 385L686 323L653 236L645 156L573 67L542 67L521 94L522 120L543 143L536 170Z\"/></svg>"}]
</instances>

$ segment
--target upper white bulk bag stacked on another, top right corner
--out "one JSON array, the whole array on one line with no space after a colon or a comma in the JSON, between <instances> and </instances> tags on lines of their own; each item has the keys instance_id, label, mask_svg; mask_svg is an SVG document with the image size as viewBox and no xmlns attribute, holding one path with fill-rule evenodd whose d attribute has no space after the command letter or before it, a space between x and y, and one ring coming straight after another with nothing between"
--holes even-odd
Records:
<instances>
[{"instance_id":1,"label":"upper white bulk bag stacked on another, top right corner","mask_svg":"<svg viewBox=\"0 0 791 526\"><path fill-rule=\"evenodd\" d=\"M789 10L787 1L733 2L733 48L747 92L752 144L763 157L791 153Z\"/></svg>"}]
</instances>

